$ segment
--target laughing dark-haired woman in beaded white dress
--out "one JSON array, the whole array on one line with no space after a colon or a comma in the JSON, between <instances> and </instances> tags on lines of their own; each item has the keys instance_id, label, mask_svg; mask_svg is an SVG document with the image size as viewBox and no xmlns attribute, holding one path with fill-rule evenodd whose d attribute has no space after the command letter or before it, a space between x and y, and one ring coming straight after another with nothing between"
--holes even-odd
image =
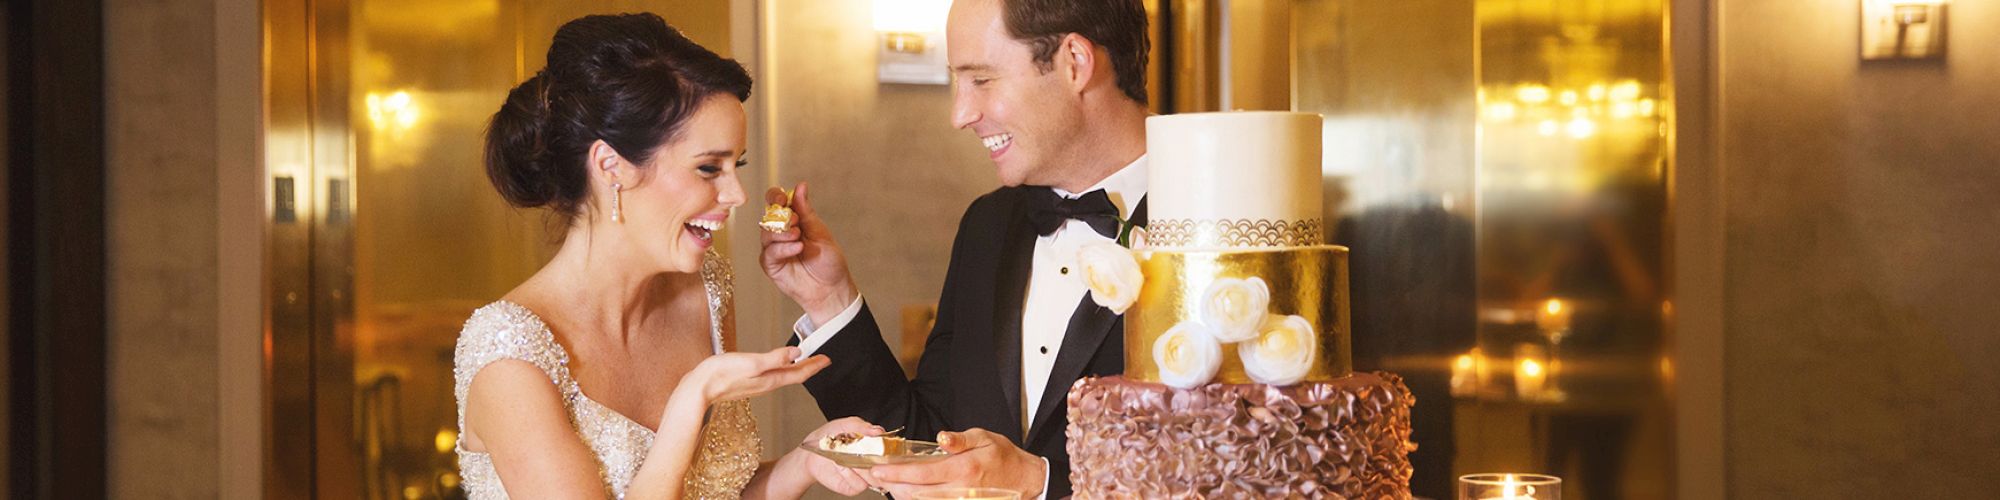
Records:
<instances>
[{"instance_id":1,"label":"laughing dark-haired woman in beaded white dress","mask_svg":"<svg viewBox=\"0 0 2000 500\"><path fill-rule=\"evenodd\" d=\"M826 356L734 348L712 232L744 202L750 76L654 14L564 24L486 130L510 204L566 222L556 256L466 320L454 354L470 498L798 498L866 482L792 448L758 464L746 398ZM830 432L878 434L860 420Z\"/></svg>"}]
</instances>

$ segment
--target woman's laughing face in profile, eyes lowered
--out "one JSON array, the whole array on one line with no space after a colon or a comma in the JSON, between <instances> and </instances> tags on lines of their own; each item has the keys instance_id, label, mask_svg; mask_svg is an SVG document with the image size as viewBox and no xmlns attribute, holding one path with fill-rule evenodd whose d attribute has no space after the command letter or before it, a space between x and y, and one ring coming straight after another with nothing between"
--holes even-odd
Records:
<instances>
[{"instance_id":1,"label":"woman's laughing face in profile, eyes lowered","mask_svg":"<svg viewBox=\"0 0 2000 500\"><path fill-rule=\"evenodd\" d=\"M624 222L600 218L624 232L624 242L666 272L696 272L702 252L714 246L714 232L730 210L744 204L736 170L744 158L744 106L734 96L712 94L680 124L676 138L652 154L642 168L618 160L612 180L600 180L610 202L618 182L618 212ZM634 182L636 178L636 182ZM608 214L604 206L600 214Z\"/></svg>"}]
</instances>

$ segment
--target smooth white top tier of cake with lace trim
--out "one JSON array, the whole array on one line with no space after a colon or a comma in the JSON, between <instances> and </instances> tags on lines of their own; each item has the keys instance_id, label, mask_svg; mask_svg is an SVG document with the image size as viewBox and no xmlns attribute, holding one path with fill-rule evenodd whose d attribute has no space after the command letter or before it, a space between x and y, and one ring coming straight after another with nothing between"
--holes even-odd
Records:
<instances>
[{"instance_id":1,"label":"smooth white top tier of cake with lace trim","mask_svg":"<svg viewBox=\"0 0 2000 500\"><path fill-rule=\"evenodd\" d=\"M1156 248L1324 244L1320 116L1146 118L1146 242Z\"/></svg>"}]
</instances>

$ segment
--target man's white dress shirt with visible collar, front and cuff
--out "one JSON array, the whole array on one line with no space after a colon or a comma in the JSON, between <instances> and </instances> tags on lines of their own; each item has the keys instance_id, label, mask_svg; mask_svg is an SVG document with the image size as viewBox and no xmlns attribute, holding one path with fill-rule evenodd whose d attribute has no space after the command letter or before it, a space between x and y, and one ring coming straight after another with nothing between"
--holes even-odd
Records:
<instances>
[{"instance_id":1,"label":"man's white dress shirt with visible collar, front and cuff","mask_svg":"<svg viewBox=\"0 0 2000 500\"><path fill-rule=\"evenodd\" d=\"M1146 196L1146 156L1132 160L1132 164L1126 164L1084 192L1056 190L1056 194L1078 198L1092 190L1104 190L1112 206L1118 206L1118 216L1132 218L1138 200ZM1060 354L1062 338L1070 330L1070 316L1076 312L1076 304L1090 292L1082 280L1082 272L1076 268L1076 250L1086 242L1110 240L1082 220L1068 220L1054 234L1034 238L1034 260L1028 270L1028 290L1024 290L1026 298L1020 310L1022 436L1026 436L1028 426L1034 424L1030 422L1034 412L1042 406L1042 392L1048 388L1048 374L1056 368L1056 354ZM798 336L800 356L812 356L820 346L826 346L826 340L846 328L860 310L862 300L856 296L854 304L848 304L846 310L826 320L826 324L814 326L812 316L798 316L798 322L792 322L792 334ZM1048 484L1046 478L1044 484Z\"/></svg>"}]
</instances>

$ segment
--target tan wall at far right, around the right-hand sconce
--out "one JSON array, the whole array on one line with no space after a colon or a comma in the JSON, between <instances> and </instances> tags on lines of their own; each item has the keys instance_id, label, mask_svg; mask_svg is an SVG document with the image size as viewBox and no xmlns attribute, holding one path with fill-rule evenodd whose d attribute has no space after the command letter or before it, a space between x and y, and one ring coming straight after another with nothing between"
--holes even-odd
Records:
<instances>
[{"instance_id":1,"label":"tan wall at far right, around the right-hand sconce","mask_svg":"<svg viewBox=\"0 0 2000 500\"><path fill-rule=\"evenodd\" d=\"M1862 62L1856 2L1718 6L1732 498L2000 488L2000 4Z\"/></svg>"}]
</instances>

